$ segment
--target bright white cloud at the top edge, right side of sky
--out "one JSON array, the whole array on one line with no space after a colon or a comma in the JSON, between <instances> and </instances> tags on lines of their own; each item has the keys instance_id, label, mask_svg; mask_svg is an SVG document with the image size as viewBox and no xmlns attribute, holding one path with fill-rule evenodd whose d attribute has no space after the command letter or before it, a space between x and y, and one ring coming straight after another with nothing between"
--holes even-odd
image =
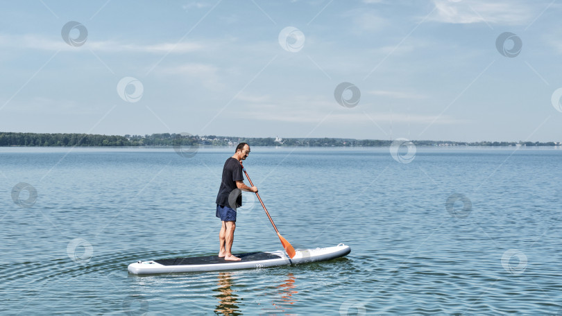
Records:
<instances>
[{"instance_id":1,"label":"bright white cloud at the top edge, right side of sky","mask_svg":"<svg viewBox=\"0 0 562 316\"><path fill-rule=\"evenodd\" d=\"M451 24L525 25L538 14L536 3L529 1L434 0L436 15L430 19Z\"/></svg>"}]
</instances>

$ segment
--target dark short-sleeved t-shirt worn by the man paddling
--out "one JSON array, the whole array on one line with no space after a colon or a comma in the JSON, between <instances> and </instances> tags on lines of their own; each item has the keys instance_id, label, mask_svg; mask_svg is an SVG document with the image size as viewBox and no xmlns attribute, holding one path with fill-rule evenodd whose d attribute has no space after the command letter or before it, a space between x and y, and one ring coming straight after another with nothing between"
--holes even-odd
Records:
<instances>
[{"instance_id":1,"label":"dark short-sleeved t-shirt worn by the man paddling","mask_svg":"<svg viewBox=\"0 0 562 316\"><path fill-rule=\"evenodd\" d=\"M244 181L244 176L242 175L242 165L236 158L226 159L223 167L223 179L221 181L221 187L219 188L219 194L216 195L216 204L223 207L230 207L231 209L236 209L242 206L242 194L239 188L236 186L237 181ZM237 190L237 192L232 193L232 191ZM230 193L236 194L236 203L234 202L235 196L230 197L232 202L228 201ZM235 205L233 205L235 204Z\"/></svg>"}]
</instances>

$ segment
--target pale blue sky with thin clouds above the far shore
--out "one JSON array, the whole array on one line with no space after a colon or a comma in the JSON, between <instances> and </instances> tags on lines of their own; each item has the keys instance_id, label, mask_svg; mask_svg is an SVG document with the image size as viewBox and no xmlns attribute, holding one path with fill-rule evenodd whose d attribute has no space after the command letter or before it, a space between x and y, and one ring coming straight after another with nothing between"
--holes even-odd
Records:
<instances>
[{"instance_id":1,"label":"pale blue sky with thin clouds above the far shore","mask_svg":"<svg viewBox=\"0 0 562 316\"><path fill-rule=\"evenodd\" d=\"M561 13L552 0L5 2L0 131L562 141ZM356 106L336 100L342 82Z\"/></svg>"}]
</instances>

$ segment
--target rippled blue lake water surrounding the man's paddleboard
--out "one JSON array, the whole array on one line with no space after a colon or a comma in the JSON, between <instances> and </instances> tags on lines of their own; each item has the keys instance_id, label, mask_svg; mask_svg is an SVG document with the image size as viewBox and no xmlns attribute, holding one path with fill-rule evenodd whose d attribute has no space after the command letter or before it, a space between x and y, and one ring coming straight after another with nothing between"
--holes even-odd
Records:
<instances>
[{"instance_id":1,"label":"rippled blue lake water surrounding the man's paddleboard","mask_svg":"<svg viewBox=\"0 0 562 316\"><path fill-rule=\"evenodd\" d=\"M232 148L0 148L0 314L562 314L562 150L404 150L252 148L282 236L346 258L139 277L218 251ZM233 251L282 249L253 197Z\"/></svg>"}]
</instances>

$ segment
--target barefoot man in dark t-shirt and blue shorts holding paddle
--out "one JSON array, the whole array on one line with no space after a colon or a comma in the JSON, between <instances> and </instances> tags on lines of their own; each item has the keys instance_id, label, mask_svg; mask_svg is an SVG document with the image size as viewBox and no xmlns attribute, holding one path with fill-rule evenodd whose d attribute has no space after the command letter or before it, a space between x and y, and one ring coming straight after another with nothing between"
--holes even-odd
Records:
<instances>
[{"instance_id":1,"label":"barefoot man in dark t-shirt and blue shorts holding paddle","mask_svg":"<svg viewBox=\"0 0 562 316\"><path fill-rule=\"evenodd\" d=\"M222 226L219 233L221 248L219 257L225 260L239 261L240 258L232 255L232 241L236 228L236 209L242 206L241 191L257 192L257 188L246 186L242 175L241 161L246 160L250 154L247 143L236 146L235 155L226 159L223 167L223 179L219 194L216 195L216 217L221 219Z\"/></svg>"}]
</instances>

